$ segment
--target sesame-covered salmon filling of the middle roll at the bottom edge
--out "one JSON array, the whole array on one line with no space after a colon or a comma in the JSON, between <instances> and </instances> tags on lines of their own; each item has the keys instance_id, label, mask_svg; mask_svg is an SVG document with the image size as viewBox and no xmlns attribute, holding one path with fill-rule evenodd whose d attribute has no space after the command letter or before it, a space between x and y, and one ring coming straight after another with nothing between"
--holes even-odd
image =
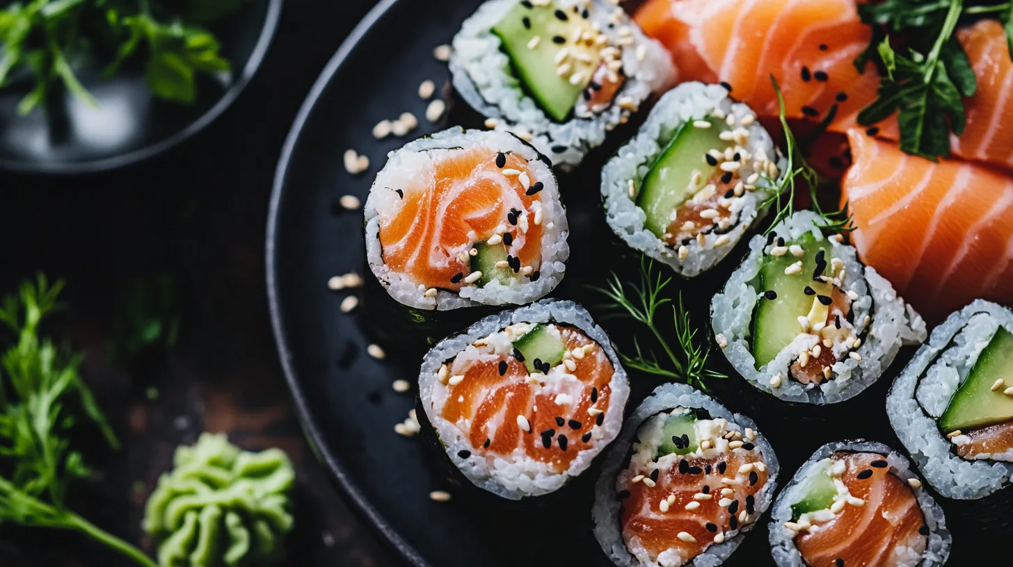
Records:
<instances>
[{"instance_id":1,"label":"sesame-covered salmon filling of the middle roll at the bottom edge","mask_svg":"<svg viewBox=\"0 0 1013 567\"><path fill-rule=\"evenodd\" d=\"M728 425L723 419L698 421L698 432L710 429L714 434L706 439L711 449L685 456L655 459L657 448L650 441L634 444L630 466L620 473L616 488L629 493L622 501L623 541L642 563L681 565L759 516L756 498L768 480L764 458L751 442L756 438L752 430L744 438L744 431Z\"/></svg>"}]
</instances>

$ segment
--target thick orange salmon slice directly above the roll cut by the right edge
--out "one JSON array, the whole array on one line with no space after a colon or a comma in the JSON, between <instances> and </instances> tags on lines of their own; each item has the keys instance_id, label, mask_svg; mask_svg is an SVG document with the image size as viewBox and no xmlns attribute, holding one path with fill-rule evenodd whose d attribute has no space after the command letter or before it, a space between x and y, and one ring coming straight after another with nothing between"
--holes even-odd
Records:
<instances>
[{"instance_id":1,"label":"thick orange salmon slice directly above the roll cut by the right edge","mask_svg":"<svg viewBox=\"0 0 1013 567\"><path fill-rule=\"evenodd\" d=\"M961 161L934 163L848 133L842 180L862 261L930 321L975 299L1013 302L1013 179Z\"/></svg>"}]
</instances>

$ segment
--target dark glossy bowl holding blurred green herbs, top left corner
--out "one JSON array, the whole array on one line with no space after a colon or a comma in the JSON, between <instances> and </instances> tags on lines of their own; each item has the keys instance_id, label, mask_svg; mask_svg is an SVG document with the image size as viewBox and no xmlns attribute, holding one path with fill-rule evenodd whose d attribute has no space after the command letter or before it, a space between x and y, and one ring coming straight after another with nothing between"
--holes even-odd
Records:
<instances>
[{"instance_id":1,"label":"dark glossy bowl holding blurred green herbs, top left corner","mask_svg":"<svg viewBox=\"0 0 1013 567\"><path fill-rule=\"evenodd\" d=\"M26 116L17 104L31 88L16 81L0 90L0 169L28 173L84 173L123 167L162 153L221 115L260 66L278 27L282 0L251 0L212 29L232 63L231 81L202 77L191 104L156 99L140 65L105 80L84 66L81 82L98 101L93 107L69 92L50 110Z\"/></svg>"}]
</instances>

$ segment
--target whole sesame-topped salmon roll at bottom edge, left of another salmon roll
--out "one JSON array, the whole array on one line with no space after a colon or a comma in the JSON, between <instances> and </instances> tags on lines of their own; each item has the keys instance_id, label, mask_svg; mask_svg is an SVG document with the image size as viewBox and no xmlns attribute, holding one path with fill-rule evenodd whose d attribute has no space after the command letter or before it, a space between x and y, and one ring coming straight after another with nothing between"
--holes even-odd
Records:
<instances>
[{"instance_id":1,"label":"whole sesame-topped salmon roll at bottom edge, left of another salmon roll","mask_svg":"<svg viewBox=\"0 0 1013 567\"><path fill-rule=\"evenodd\" d=\"M684 384L654 390L595 487L595 537L615 565L721 564L773 501L774 450L749 418Z\"/></svg>"}]
</instances>

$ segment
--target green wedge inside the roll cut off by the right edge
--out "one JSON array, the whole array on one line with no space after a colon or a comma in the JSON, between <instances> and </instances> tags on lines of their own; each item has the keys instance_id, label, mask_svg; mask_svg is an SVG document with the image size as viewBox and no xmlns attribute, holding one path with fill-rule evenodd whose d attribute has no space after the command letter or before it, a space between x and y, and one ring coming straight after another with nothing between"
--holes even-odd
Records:
<instances>
[{"instance_id":1,"label":"green wedge inside the roll cut off by the right edge","mask_svg":"<svg viewBox=\"0 0 1013 567\"><path fill-rule=\"evenodd\" d=\"M992 385L999 379L1013 386L1013 333L1003 326L992 336L967 379L953 394L939 418L939 427L951 433L1013 419L1013 397L1003 394L1005 388L992 391Z\"/></svg>"}]
</instances>

